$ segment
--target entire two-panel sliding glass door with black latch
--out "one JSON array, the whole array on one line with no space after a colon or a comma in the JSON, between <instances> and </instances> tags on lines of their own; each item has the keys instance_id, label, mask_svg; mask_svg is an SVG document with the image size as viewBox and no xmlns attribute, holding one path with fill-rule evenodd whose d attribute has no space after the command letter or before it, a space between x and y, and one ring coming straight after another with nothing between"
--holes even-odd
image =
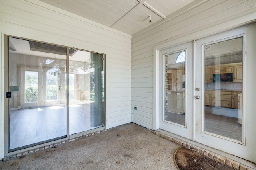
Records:
<instances>
[{"instance_id":1,"label":"entire two-panel sliding glass door with black latch","mask_svg":"<svg viewBox=\"0 0 256 170\"><path fill-rule=\"evenodd\" d=\"M103 54L7 36L5 43L7 152L104 127Z\"/></svg>"}]
</instances>

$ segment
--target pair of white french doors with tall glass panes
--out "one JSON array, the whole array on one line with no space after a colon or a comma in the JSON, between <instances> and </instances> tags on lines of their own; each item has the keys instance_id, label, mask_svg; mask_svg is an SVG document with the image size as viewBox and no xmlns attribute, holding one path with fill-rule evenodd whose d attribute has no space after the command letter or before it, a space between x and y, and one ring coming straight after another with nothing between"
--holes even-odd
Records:
<instances>
[{"instance_id":1,"label":"pair of white french doors with tall glass panes","mask_svg":"<svg viewBox=\"0 0 256 170\"><path fill-rule=\"evenodd\" d=\"M192 42L159 51L159 129L256 162L255 30L251 24L198 39L193 55Z\"/></svg>"}]
</instances>

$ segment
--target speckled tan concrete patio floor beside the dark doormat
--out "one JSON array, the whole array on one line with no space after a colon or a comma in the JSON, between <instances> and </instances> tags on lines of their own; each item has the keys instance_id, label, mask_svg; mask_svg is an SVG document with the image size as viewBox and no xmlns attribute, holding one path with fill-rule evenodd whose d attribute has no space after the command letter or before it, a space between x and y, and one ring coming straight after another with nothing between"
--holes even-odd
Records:
<instances>
[{"instance_id":1,"label":"speckled tan concrete patio floor beside the dark doormat","mask_svg":"<svg viewBox=\"0 0 256 170\"><path fill-rule=\"evenodd\" d=\"M0 162L0 169L43 170L177 170L180 145L134 123L115 127L50 149Z\"/></svg>"}]
</instances>

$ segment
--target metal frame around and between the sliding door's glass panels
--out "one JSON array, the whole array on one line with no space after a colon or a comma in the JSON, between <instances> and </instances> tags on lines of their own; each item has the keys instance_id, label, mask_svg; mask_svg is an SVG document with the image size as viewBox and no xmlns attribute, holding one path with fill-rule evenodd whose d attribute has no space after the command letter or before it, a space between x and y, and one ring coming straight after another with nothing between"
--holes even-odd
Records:
<instances>
[{"instance_id":1,"label":"metal frame around and between the sliding door's glass panels","mask_svg":"<svg viewBox=\"0 0 256 170\"><path fill-rule=\"evenodd\" d=\"M98 127L98 128L95 128L95 129L91 129L91 130L88 130L88 131L83 131L83 132L80 132L80 133L76 133L76 134L73 134L73 135L70 135L69 134L69 83L67 83L67 93L66 93L66 98L67 98L67 101L66 101L66 104L67 104L67 135L66 137L61 137L61 139L53 139L53 140L48 140L48 141L43 141L43 142L39 142L39 143L34 143L33 146L29 146L26 147L26 148L21 148L19 150L9 150L9 143L10 143L10 132L9 132L9 129L10 129L10 123L9 123L9 100L8 98L6 98L6 92L9 92L9 37L12 37L12 38L17 38L17 39L22 39L22 40L27 40L27 41L35 41L35 42L38 42L38 43L45 43L45 44L48 44L48 45L56 45L56 46L59 46L59 47L65 47L67 49L66 51L66 74L67 74L67 82L69 82L69 50L70 49L74 49L74 48L71 48L71 47L68 47L68 46L64 46L64 45L57 45L57 44L53 44L53 43L47 43L47 42L42 42L42 41L36 41L36 40L32 40L32 39L27 39L27 38L24 38L24 37L17 37L17 36L10 36L10 35L7 35L7 34L3 34L3 46L4 46L4 50L3 50L3 53L4 53L4 57L3 57L3 65L4 65L4 69L3 69L3 75L4 75L4 78L3 78L3 90L4 90L4 97L3 97L3 108L2 108L2 117L3 117L3 129L4 129L4 135L3 135L3 156L10 156L10 155L13 155L13 154L17 154L17 153L22 153L22 152L25 152L25 151L28 151L28 150L32 150L32 149L36 149L36 148L40 148L40 147L44 147L44 146L47 146L47 145L52 145L54 143L59 143L59 142L62 142L62 141L65 141L65 140L68 140L68 139L72 139L72 138L75 138L75 137L79 137L79 136L82 136L82 135L86 135L86 134L89 134L89 133L93 133L93 132L96 132L96 131L101 131L101 130L104 130L106 129L106 88L104 88L104 113L103 113L103 119L102 121L104 122L104 125L102 127ZM84 49L78 49L78 48L75 48L76 50L82 50L82 51L87 51L87 50L84 50ZM101 54L104 56L104 65L103 65L103 69L104 69L104 87L106 87L106 54L105 53L98 53L98 52L94 52L94 51L87 51L87 52L90 52L90 53L97 53L97 54ZM18 80L20 81L20 79ZM8 132L8 133L7 133Z\"/></svg>"}]
</instances>

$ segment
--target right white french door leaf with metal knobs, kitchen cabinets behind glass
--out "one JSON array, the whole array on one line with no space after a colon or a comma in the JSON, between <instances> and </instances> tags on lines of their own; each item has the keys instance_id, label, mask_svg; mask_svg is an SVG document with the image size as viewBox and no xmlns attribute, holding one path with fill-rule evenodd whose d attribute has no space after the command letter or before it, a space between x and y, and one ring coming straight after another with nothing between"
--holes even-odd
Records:
<instances>
[{"instance_id":1,"label":"right white french door leaf with metal knobs, kitchen cabinets behind glass","mask_svg":"<svg viewBox=\"0 0 256 170\"><path fill-rule=\"evenodd\" d=\"M199 39L194 56L195 89L200 89L194 90L195 141L252 162L255 114L246 102L255 94L255 80L248 79L255 72L249 63L255 63L254 30L248 25Z\"/></svg>"}]
</instances>

